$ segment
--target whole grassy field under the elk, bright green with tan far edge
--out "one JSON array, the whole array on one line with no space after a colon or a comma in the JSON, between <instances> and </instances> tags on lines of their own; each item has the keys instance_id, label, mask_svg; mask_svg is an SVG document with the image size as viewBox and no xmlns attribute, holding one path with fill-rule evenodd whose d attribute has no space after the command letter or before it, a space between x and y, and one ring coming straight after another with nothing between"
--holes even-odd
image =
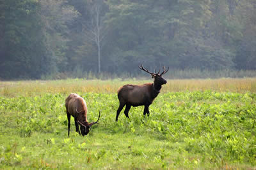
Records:
<instances>
[{"instance_id":1,"label":"whole grassy field under the elk, bright green with tan far edge","mask_svg":"<svg viewBox=\"0 0 256 170\"><path fill-rule=\"evenodd\" d=\"M0 81L0 169L255 169L256 78L168 80L115 122L118 87L150 81ZM88 136L67 137L70 92L102 113Z\"/></svg>"}]
</instances>

